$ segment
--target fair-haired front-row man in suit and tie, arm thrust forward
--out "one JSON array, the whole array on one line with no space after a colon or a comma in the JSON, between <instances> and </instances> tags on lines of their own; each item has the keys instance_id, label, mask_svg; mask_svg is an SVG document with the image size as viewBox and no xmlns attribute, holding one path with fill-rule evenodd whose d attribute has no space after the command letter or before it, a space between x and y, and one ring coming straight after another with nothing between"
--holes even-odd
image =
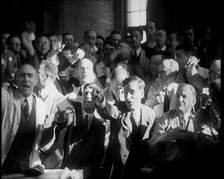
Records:
<instances>
[{"instance_id":1,"label":"fair-haired front-row man in suit and tie, arm thrust forward","mask_svg":"<svg viewBox=\"0 0 224 179\"><path fill-rule=\"evenodd\" d=\"M141 103L144 81L130 76L124 80L123 86L125 101L114 105L104 101L105 108L103 103L100 106L104 113L109 113L108 119L111 120L110 141L104 161L105 178L120 178L126 163L129 163L126 171L133 169L133 174L138 173L142 164L141 143L149 138L155 119L154 111Z\"/></svg>"}]
</instances>

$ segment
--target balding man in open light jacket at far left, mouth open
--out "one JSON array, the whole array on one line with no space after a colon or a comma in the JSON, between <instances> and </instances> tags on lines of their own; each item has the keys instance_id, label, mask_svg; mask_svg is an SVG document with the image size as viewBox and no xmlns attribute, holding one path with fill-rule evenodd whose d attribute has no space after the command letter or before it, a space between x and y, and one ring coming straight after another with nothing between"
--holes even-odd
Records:
<instances>
[{"instance_id":1,"label":"balding man in open light jacket at far left, mouth open","mask_svg":"<svg viewBox=\"0 0 224 179\"><path fill-rule=\"evenodd\" d=\"M38 143L46 111L43 101L33 93L37 79L35 69L24 64L17 75L18 89L2 88L3 174L44 172Z\"/></svg>"}]
</instances>

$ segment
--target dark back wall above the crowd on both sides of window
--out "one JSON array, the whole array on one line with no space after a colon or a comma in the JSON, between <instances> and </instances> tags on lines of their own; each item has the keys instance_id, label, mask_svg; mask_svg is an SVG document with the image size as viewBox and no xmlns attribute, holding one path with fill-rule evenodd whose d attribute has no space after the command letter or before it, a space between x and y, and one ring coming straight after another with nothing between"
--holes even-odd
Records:
<instances>
[{"instance_id":1,"label":"dark back wall above the crowd on both sides of window","mask_svg":"<svg viewBox=\"0 0 224 179\"><path fill-rule=\"evenodd\" d=\"M2 0L0 2L0 32L20 33L25 22L34 20L38 33L69 31L75 36L87 29L95 29L102 35L111 30L124 31L126 24L126 0ZM148 18L159 28L181 29L192 24L199 32L205 24L213 27L222 44L223 9L220 0L148 0ZM79 37L78 40L82 40Z\"/></svg>"}]
</instances>

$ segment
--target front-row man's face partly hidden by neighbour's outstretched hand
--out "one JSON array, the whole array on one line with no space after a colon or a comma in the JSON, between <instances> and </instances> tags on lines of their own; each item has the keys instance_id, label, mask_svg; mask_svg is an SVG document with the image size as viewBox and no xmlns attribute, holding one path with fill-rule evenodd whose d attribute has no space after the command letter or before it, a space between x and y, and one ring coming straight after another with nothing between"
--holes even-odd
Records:
<instances>
[{"instance_id":1,"label":"front-row man's face partly hidden by neighbour's outstretched hand","mask_svg":"<svg viewBox=\"0 0 224 179\"><path fill-rule=\"evenodd\" d=\"M89 86L85 87L82 92L82 108L88 114L95 111L95 102L92 96L93 89Z\"/></svg>"}]
</instances>

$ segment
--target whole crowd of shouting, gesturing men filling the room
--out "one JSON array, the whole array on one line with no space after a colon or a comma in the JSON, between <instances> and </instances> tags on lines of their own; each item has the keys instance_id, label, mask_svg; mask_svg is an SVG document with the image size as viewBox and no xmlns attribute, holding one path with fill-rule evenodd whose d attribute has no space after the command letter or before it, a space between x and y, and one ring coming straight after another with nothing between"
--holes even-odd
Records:
<instances>
[{"instance_id":1,"label":"whole crowd of shouting, gesturing men filling the room","mask_svg":"<svg viewBox=\"0 0 224 179\"><path fill-rule=\"evenodd\" d=\"M222 47L206 27L1 35L1 175L219 175ZM193 174L194 173L194 174Z\"/></svg>"}]
</instances>

